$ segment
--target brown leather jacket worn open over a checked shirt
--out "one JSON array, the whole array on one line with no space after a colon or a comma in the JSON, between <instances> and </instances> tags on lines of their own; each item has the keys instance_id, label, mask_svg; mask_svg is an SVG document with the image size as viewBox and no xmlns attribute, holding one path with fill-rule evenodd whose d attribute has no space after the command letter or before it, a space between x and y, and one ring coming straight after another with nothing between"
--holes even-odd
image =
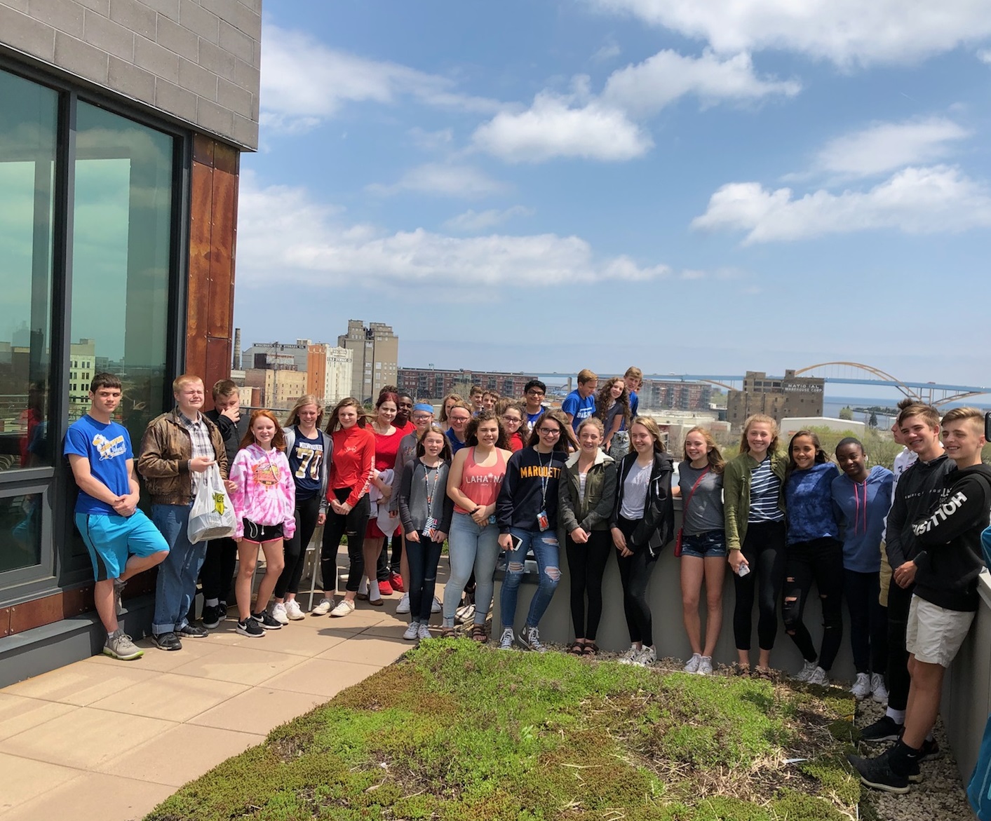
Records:
<instances>
[{"instance_id":1,"label":"brown leather jacket worn open over a checked shirt","mask_svg":"<svg viewBox=\"0 0 991 821\"><path fill-rule=\"evenodd\" d=\"M210 432L214 457L220 467L221 478L227 478L227 449L224 438L205 416L203 424ZM141 456L138 472L145 478L145 486L152 496L152 504L188 504L192 498L192 479L189 460L192 459L192 440L178 418L178 409L158 416L148 423L141 438Z\"/></svg>"}]
</instances>

